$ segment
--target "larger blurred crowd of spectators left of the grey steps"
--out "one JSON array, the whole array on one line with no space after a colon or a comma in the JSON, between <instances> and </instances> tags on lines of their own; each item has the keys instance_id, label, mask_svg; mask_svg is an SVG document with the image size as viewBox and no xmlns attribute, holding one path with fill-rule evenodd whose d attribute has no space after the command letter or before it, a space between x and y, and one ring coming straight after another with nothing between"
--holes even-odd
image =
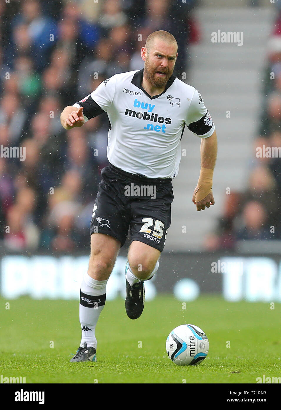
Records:
<instances>
[{"instance_id":1,"label":"larger blurred crowd of spectators left of the grey steps","mask_svg":"<svg viewBox=\"0 0 281 410\"><path fill-rule=\"evenodd\" d=\"M108 118L65 131L60 114L106 78L143 67L148 34L178 41L175 75L198 40L196 0L0 2L0 244L9 251L89 246L92 207L107 164ZM273 64L273 62L272 62ZM276 63L277 64L277 63ZM276 83L276 87L278 84Z\"/></svg>"}]
</instances>

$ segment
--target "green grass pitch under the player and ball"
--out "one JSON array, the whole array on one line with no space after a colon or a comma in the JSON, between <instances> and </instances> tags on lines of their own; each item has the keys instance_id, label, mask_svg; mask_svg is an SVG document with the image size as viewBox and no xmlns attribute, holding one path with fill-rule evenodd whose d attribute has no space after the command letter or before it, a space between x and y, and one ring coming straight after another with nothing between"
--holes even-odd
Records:
<instances>
[{"instance_id":1,"label":"green grass pitch under the player and ball","mask_svg":"<svg viewBox=\"0 0 281 410\"><path fill-rule=\"evenodd\" d=\"M26 383L256 383L263 374L280 376L280 310L280 303L270 309L218 296L201 296L183 310L162 295L133 321L123 300L108 301L96 330L97 362L70 363L80 343L77 301L0 298L0 374ZM176 366L166 354L166 337L182 323L209 338L198 366Z\"/></svg>"}]
</instances>

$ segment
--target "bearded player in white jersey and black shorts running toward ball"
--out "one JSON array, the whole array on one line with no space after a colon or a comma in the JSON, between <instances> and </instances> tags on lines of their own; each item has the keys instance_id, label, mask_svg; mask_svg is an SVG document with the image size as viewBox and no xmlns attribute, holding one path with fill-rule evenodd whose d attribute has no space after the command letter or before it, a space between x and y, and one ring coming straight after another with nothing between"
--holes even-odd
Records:
<instances>
[{"instance_id":1,"label":"bearded player in white jersey and black shorts running toward ball","mask_svg":"<svg viewBox=\"0 0 281 410\"><path fill-rule=\"evenodd\" d=\"M137 319L144 309L144 281L156 273L171 223L173 187L185 126L201 138L201 171L192 201L198 211L214 205L211 191L217 140L200 93L173 75L175 38L150 34L142 48L144 68L115 74L78 103L65 107L66 130L107 112L107 156L90 222L88 273L80 292L82 338L70 362L96 361L95 328L106 302L106 282L130 230L126 264L126 313Z\"/></svg>"}]
</instances>

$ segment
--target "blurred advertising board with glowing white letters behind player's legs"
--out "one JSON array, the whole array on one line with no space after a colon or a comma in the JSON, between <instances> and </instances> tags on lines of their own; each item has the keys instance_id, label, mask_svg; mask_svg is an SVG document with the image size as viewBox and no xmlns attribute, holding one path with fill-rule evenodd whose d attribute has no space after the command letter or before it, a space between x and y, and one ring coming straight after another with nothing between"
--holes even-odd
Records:
<instances>
[{"instance_id":1,"label":"blurred advertising board with glowing white letters behind player's legs","mask_svg":"<svg viewBox=\"0 0 281 410\"><path fill-rule=\"evenodd\" d=\"M0 292L5 298L78 299L88 255L4 255ZM118 256L107 284L107 300L125 297L125 256ZM192 301L202 293L222 294L232 302L281 301L281 258L274 256L219 256L214 254L163 254L160 269L147 281L146 300L158 293L173 293Z\"/></svg>"}]
</instances>

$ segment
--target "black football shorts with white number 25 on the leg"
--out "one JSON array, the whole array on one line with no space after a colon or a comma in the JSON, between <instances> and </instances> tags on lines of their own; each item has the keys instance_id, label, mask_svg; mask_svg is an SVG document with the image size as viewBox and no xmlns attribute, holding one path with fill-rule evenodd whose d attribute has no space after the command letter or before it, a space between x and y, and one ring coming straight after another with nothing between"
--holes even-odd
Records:
<instances>
[{"instance_id":1,"label":"black football shorts with white number 25 on the leg","mask_svg":"<svg viewBox=\"0 0 281 410\"><path fill-rule=\"evenodd\" d=\"M173 187L171 178L146 178L112 164L101 170L90 234L110 235L124 245L130 238L163 251L171 225Z\"/></svg>"}]
</instances>

